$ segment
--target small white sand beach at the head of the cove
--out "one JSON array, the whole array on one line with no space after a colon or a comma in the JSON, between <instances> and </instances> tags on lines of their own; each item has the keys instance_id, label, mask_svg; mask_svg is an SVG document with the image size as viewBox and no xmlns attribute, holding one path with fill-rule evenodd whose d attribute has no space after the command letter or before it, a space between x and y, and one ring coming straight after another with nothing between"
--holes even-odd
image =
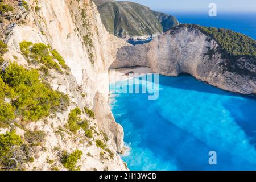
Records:
<instances>
[{"instance_id":1,"label":"small white sand beach at the head of the cove","mask_svg":"<svg viewBox=\"0 0 256 182\"><path fill-rule=\"evenodd\" d=\"M118 82L122 80L128 80L130 78L138 77L146 75L148 73L153 73L151 68L148 67L131 67L131 68L119 68L119 69L113 69L113 71L109 70L109 82ZM127 73L133 72L133 75L127 75ZM111 76L111 74L114 73L114 76Z\"/></svg>"}]
</instances>

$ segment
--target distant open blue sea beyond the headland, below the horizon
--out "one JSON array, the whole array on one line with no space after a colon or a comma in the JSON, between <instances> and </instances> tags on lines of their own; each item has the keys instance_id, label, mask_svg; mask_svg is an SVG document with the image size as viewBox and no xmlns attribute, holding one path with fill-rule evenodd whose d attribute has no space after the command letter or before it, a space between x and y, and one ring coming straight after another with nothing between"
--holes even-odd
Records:
<instances>
[{"instance_id":1,"label":"distant open blue sea beyond the headland, below the horizon","mask_svg":"<svg viewBox=\"0 0 256 182\"><path fill-rule=\"evenodd\" d=\"M206 27L227 28L256 39L256 12L222 12L216 17L208 12L165 12L175 16L180 23L200 24Z\"/></svg>"}]
</instances>

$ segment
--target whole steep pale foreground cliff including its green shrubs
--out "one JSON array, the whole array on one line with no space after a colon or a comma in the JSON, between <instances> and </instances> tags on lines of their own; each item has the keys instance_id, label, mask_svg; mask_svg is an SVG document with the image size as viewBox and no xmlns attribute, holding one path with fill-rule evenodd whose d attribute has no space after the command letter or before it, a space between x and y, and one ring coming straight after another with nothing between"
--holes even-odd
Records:
<instances>
[{"instance_id":1,"label":"whole steep pale foreground cliff including its green shrubs","mask_svg":"<svg viewBox=\"0 0 256 182\"><path fill-rule=\"evenodd\" d=\"M123 150L123 129L115 123L108 105L108 68L118 48L127 43L105 30L90 0L3 3L13 6L13 10L0 15L0 85L5 91L0 100L0 124L4 124L0 125L0 168L127 169L117 154ZM10 81L11 75L22 87L17 89ZM22 82L24 78L27 81ZM45 92L30 90L30 86L36 88L35 84L55 97L38 96ZM20 95L10 94L10 89L18 92L20 88L24 89ZM44 106L33 105L31 100L17 104L17 97L23 101L26 94L31 94L46 108L48 98L57 106L57 93L68 102L61 103L66 103L62 110L51 107L49 114L42 113ZM10 110L2 107L5 105L18 107L10 115ZM29 115L33 110L38 119Z\"/></svg>"}]
</instances>

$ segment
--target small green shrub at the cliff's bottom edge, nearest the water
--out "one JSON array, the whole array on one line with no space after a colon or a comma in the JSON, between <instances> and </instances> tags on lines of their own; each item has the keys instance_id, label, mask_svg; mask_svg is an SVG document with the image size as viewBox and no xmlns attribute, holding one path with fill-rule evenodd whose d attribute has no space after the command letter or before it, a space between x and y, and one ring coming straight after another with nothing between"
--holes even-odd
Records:
<instances>
[{"instance_id":1,"label":"small green shrub at the cliff's bottom edge, nearest the water","mask_svg":"<svg viewBox=\"0 0 256 182\"><path fill-rule=\"evenodd\" d=\"M79 171L81 166L77 167L76 163L79 159L81 159L81 156L82 156L82 151L80 150L75 150L70 155L68 155L67 151L64 151L61 157L61 163L69 171Z\"/></svg>"}]
</instances>

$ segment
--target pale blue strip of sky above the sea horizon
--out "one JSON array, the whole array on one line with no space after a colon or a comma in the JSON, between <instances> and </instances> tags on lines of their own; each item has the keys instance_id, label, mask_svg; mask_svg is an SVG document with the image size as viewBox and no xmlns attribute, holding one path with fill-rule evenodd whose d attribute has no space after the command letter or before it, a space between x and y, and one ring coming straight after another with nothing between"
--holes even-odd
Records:
<instances>
[{"instance_id":1,"label":"pale blue strip of sky above the sea horizon","mask_svg":"<svg viewBox=\"0 0 256 182\"><path fill-rule=\"evenodd\" d=\"M129 0L152 10L208 11L209 3L216 3L222 11L256 11L256 0Z\"/></svg>"}]
</instances>

